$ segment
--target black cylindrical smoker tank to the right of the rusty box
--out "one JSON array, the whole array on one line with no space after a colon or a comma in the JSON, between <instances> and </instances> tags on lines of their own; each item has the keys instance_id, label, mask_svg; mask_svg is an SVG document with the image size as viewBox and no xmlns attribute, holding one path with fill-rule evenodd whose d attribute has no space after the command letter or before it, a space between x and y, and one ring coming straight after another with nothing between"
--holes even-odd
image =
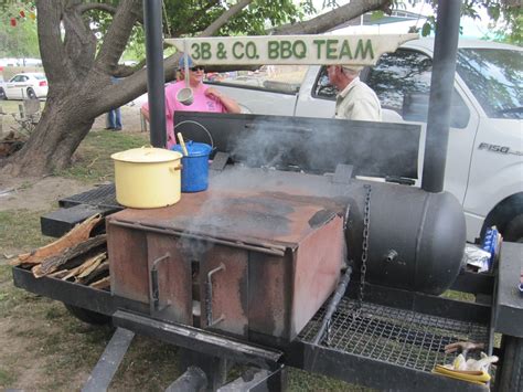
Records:
<instances>
[{"instance_id":1,"label":"black cylindrical smoker tank to the right of the rusty box","mask_svg":"<svg viewBox=\"0 0 523 392\"><path fill-rule=\"evenodd\" d=\"M369 186L369 184L367 184ZM466 243L465 215L448 192L371 183L366 282L439 295L456 279ZM354 181L346 231L361 271L367 187Z\"/></svg>"}]
</instances>

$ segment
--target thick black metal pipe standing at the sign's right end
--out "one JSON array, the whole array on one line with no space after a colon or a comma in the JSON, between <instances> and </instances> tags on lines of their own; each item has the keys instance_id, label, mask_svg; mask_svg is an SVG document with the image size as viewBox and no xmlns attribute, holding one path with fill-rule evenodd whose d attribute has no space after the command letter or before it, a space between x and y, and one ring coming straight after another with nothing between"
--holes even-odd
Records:
<instances>
[{"instance_id":1,"label":"thick black metal pipe standing at the sign's right end","mask_svg":"<svg viewBox=\"0 0 523 392\"><path fill-rule=\"evenodd\" d=\"M461 0L438 1L421 178L421 188L428 192L444 189L460 14Z\"/></svg>"}]
</instances>

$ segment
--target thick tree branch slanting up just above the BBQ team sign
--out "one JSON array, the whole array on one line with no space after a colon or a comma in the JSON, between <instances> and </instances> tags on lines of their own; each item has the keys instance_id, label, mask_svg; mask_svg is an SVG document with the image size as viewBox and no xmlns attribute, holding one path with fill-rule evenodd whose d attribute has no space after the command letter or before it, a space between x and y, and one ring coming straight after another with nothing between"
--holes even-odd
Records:
<instances>
[{"instance_id":1,"label":"thick tree branch slanting up just above the BBQ team sign","mask_svg":"<svg viewBox=\"0 0 523 392\"><path fill-rule=\"evenodd\" d=\"M284 24L270 30L274 34L319 34L329 31L343 22L361 14L383 10L391 4L391 0L352 0L350 3L323 13L311 20L298 23Z\"/></svg>"}]
</instances>

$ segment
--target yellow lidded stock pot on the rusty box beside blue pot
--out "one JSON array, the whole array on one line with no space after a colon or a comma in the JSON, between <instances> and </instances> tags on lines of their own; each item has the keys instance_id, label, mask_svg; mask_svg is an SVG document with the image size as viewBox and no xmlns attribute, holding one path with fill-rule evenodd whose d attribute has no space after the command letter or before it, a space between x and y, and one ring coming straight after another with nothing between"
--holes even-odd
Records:
<instances>
[{"instance_id":1,"label":"yellow lidded stock pot on the rusty box beside blue pot","mask_svg":"<svg viewBox=\"0 0 523 392\"><path fill-rule=\"evenodd\" d=\"M110 158L115 161L116 200L121 205L154 209L180 200L180 152L141 147Z\"/></svg>"}]
</instances>

